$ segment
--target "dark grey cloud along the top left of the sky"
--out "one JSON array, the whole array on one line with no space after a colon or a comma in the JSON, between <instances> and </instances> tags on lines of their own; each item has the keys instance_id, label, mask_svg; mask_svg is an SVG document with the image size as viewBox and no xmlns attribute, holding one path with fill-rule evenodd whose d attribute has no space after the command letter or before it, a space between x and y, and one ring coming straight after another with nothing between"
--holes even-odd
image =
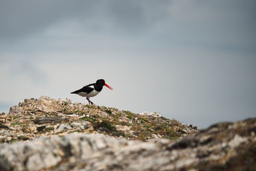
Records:
<instances>
[{"instance_id":1,"label":"dark grey cloud along the top left of the sky","mask_svg":"<svg viewBox=\"0 0 256 171\"><path fill-rule=\"evenodd\" d=\"M169 1L1 1L0 36L17 39L65 20L77 20L86 29L143 31L166 15ZM107 28L108 29L108 28ZM108 31L108 30L106 30ZM3 40L2 40L3 41Z\"/></svg>"}]
</instances>

